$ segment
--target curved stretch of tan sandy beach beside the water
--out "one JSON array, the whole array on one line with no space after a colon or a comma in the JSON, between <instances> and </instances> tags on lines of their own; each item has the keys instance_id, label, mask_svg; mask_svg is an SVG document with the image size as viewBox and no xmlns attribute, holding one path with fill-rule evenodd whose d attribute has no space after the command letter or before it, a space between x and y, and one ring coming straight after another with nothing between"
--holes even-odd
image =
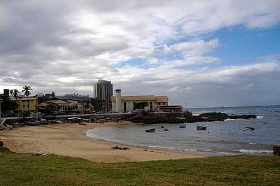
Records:
<instances>
[{"instance_id":1,"label":"curved stretch of tan sandy beach beside the water","mask_svg":"<svg viewBox=\"0 0 280 186\"><path fill-rule=\"evenodd\" d=\"M129 125L129 122L115 123L63 123L22 127L0 131L4 146L16 153L43 153L78 157L93 162L142 162L184 158L203 158L202 154L188 154L140 148L88 138L85 132L97 127ZM114 146L129 147L129 150L111 149Z\"/></svg>"}]
</instances>

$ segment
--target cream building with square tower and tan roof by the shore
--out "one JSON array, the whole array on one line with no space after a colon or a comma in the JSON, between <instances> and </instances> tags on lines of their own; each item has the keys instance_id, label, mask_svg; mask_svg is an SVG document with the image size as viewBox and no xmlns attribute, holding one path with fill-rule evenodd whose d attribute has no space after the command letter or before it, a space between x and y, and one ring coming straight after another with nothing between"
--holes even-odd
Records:
<instances>
[{"instance_id":1,"label":"cream building with square tower and tan roof by the shore","mask_svg":"<svg viewBox=\"0 0 280 186\"><path fill-rule=\"evenodd\" d=\"M129 112L138 102L147 102L148 106L144 108L146 111L157 111L158 106L167 106L167 96L121 96L121 89L117 89L116 96L111 97L113 112Z\"/></svg>"}]
</instances>

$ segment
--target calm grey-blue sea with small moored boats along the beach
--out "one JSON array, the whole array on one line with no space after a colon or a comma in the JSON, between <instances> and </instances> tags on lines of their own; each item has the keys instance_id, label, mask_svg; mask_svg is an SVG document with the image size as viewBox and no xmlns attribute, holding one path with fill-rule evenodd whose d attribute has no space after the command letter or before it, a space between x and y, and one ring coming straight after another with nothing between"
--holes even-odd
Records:
<instances>
[{"instance_id":1,"label":"calm grey-blue sea with small moored boats along the beach","mask_svg":"<svg viewBox=\"0 0 280 186\"><path fill-rule=\"evenodd\" d=\"M215 154L272 154L270 144L280 144L280 106L223 107L188 109L193 115L205 112L227 114L255 114L258 119L239 119L216 122L178 124L126 125L97 128L87 131L87 136L111 142L141 147L153 147L178 151L200 151ZM207 126L198 131L198 125ZM162 131L160 126L168 128ZM244 131L245 127L255 131ZM145 130L155 128L155 133Z\"/></svg>"}]
</instances>

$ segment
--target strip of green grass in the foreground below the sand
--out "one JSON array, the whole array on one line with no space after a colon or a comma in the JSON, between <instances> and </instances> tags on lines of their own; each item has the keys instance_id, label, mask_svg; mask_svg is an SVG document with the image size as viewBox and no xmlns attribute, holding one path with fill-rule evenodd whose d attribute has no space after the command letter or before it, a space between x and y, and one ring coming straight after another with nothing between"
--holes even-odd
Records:
<instances>
[{"instance_id":1,"label":"strip of green grass in the foreground below the sand","mask_svg":"<svg viewBox=\"0 0 280 186\"><path fill-rule=\"evenodd\" d=\"M93 163L0 147L0 185L280 185L280 157Z\"/></svg>"}]
</instances>

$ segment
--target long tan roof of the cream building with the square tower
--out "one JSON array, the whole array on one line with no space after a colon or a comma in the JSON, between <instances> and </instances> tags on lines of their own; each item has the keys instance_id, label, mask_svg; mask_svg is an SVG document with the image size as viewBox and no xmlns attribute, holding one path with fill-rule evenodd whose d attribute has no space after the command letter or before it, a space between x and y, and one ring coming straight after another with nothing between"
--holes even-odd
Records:
<instances>
[{"instance_id":1,"label":"long tan roof of the cream building with the square tower","mask_svg":"<svg viewBox=\"0 0 280 186\"><path fill-rule=\"evenodd\" d=\"M153 96L153 95L149 95L149 96L122 96L122 101L155 101L155 102L167 102L168 101L168 97L167 96ZM112 96L111 97L111 101L115 102L116 101L116 97Z\"/></svg>"}]
</instances>

